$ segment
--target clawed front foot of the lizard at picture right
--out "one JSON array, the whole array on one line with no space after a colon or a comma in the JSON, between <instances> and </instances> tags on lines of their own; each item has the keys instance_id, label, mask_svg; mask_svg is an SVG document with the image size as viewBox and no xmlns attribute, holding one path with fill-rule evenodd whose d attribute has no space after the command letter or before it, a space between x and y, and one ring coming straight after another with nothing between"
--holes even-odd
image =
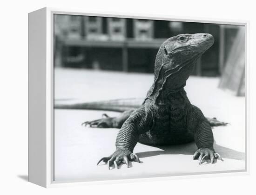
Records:
<instances>
[{"instance_id":1,"label":"clawed front foot of the lizard at picture right","mask_svg":"<svg viewBox=\"0 0 256 195\"><path fill-rule=\"evenodd\" d=\"M212 164L216 163L217 159L223 161L222 157L218 153L209 148L200 148L195 151L193 159L198 159L199 164L202 164L207 160L209 160Z\"/></svg>"}]
</instances>

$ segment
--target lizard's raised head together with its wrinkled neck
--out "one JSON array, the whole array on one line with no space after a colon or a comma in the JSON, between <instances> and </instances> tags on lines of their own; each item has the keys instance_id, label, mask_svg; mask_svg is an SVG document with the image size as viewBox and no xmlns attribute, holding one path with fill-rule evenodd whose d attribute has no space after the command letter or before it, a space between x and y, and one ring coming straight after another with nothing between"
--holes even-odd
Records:
<instances>
[{"instance_id":1,"label":"lizard's raised head together with its wrinkled neck","mask_svg":"<svg viewBox=\"0 0 256 195\"><path fill-rule=\"evenodd\" d=\"M155 81L147 97L162 102L163 94L182 89L196 60L213 43L213 36L206 33L180 34L163 42L155 58Z\"/></svg>"}]
</instances>

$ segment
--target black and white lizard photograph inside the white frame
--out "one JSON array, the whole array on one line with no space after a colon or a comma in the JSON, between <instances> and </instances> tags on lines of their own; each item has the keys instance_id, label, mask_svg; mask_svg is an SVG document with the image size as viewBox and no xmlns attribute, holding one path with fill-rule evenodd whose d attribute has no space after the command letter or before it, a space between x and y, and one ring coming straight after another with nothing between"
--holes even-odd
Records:
<instances>
[{"instance_id":1,"label":"black and white lizard photograph inside the white frame","mask_svg":"<svg viewBox=\"0 0 256 195\"><path fill-rule=\"evenodd\" d=\"M55 182L246 170L244 25L53 25Z\"/></svg>"}]
</instances>

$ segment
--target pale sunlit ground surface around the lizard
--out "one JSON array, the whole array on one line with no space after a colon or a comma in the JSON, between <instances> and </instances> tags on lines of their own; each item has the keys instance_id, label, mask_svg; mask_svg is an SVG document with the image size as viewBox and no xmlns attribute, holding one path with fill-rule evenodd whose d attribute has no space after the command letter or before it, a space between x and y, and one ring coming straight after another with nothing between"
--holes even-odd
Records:
<instances>
[{"instance_id":1,"label":"pale sunlit ground surface around the lizard","mask_svg":"<svg viewBox=\"0 0 256 195\"><path fill-rule=\"evenodd\" d=\"M153 82L151 74L125 74L79 69L55 70L55 99L58 102L100 101L118 98L143 98ZM215 150L224 162L198 165L192 160L194 143L152 147L138 143L134 152L143 163L132 162L108 170L96 166L101 157L115 151L119 129L85 128L81 123L101 118L92 110L60 110L55 114L55 181L93 181L150 176L184 175L209 171L245 169L245 98L218 89L218 78L193 77L185 87L189 100L201 108L205 116L229 122L229 126L213 128Z\"/></svg>"}]
</instances>

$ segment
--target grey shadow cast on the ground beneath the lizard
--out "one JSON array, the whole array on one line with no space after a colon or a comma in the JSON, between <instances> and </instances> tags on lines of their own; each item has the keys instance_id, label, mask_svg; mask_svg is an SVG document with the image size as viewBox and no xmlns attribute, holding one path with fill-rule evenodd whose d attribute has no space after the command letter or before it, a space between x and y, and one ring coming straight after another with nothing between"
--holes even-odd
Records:
<instances>
[{"instance_id":1,"label":"grey shadow cast on the ground beneath the lizard","mask_svg":"<svg viewBox=\"0 0 256 195\"><path fill-rule=\"evenodd\" d=\"M152 146L152 145L151 145ZM195 142L190 142L188 144L182 145L155 145L161 149L161 151L145 151L145 152L137 152L136 154L140 158L144 157L153 157L158 155L165 154L184 154L184 155L193 155L197 150ZM222 158L229 158L235 160L245 160L245 153L241 151L236 151L230 148L223 147L221 145L217 145L214 141L214 149L218 152Z\"/></svg>"}]
</instances>

